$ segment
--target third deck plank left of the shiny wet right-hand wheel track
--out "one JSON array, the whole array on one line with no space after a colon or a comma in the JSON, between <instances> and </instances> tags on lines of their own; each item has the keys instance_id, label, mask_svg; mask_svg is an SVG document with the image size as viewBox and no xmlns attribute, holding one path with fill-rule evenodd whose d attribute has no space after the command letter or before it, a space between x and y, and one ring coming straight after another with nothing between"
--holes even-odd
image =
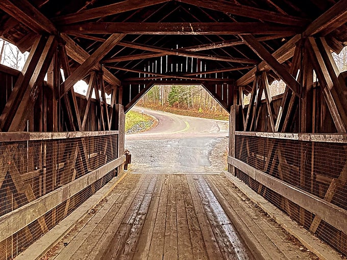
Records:
<instances>
[{"instance_id":1,"label":"third deck plank left of the shiny wet right-hand wheel track","mask_svg":"<svg viewBox=\"0 0 347 260\"><path fill-rule=\"evenodd\" d=\"M176 208L177 208L177 242L178 242L178 258L193 259L191 248L190 233L188 227L188 219L186 207L184 204L182 181L180 175L175 176L175 192L176 192Z\"/></svg>"}]
</instances>

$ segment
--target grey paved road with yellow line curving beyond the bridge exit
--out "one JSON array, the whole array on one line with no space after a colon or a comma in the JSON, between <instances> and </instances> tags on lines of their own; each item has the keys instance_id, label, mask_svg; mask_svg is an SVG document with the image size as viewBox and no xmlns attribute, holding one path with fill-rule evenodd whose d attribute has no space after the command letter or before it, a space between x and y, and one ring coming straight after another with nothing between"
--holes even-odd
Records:
<instances>
[{"instance_id":1,"label":"grey paved road with yellow line curving beyond the bridge exit","mask_svg":"<svg viewBox=\"0 0 347 260\"><path fill-rule=\"evenodd\" d=\"M126 135L132 172L219 173L226 169L228 121L143 111L159 123L150 131Z\"/></svg>"}]
</instances>

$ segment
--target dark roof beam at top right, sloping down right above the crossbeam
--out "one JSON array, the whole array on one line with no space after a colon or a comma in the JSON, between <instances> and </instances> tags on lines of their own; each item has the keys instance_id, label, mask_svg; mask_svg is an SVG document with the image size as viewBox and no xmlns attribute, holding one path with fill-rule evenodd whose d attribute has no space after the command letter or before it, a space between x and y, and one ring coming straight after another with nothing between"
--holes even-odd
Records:
<instances>
[{"instance_id":1,"label":"dark roof beam at top right, sloping down right above the crossbeam","mask_svg":"<svg viewBox=\"0 0 347 260\"><path fill-rule=\"evenodd\" d=\"M279 14L264 9L259 9L250 6L230 3L223 0L179 0L180 2L208 8L211 10L234 14L238 16L245 16L247 18L259 19L262 21L270 21L275 23L282 23L287 25L303 26L309 21L300 17L289 16L286 14Z\"/></svg>"}]
</instances>

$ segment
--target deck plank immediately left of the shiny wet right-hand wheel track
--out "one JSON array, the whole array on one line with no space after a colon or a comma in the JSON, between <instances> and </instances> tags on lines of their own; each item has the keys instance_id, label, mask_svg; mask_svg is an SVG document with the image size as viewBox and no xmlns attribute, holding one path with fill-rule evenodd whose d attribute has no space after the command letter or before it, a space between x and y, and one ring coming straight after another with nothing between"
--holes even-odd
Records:
<instances>
[{"instance_id":1,"label":"deck plank immediately left of the shiny wet right-hand wheel track","mask_svg":"<svg viewBox=\"0 0 347 260\"><path fill-rule=\"evenodd\" d=\"M190 194L193 199L193 204L196 211L197 220L199 221L199 225L203 234L208 256L210 259L222 259L222 254L220 252L218 243L214 236L211 225L208 219L206 218L202 201L194 185L193 176L194 178L196 178L196 176L195 175L186 175L186 176L187 176Z\"/></svg>"}]
</instances>

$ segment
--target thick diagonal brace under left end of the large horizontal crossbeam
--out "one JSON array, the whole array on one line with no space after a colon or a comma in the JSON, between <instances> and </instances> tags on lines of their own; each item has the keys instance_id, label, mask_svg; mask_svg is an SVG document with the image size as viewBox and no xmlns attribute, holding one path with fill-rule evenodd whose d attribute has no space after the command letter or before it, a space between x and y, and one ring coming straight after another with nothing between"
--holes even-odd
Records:
<instances>
[{"instance_id":1,"label":"thick diagonal brace under left end of the large horizontal crossbeam","mask_svg":"<svg viewBox=\"0 0 347 260\"><path fill-rule=\"evenodd\" d=\"M65 82L61 84L60 95L63 96L76 82L82 79L124 36L123 34L112 34L80 67L72 72Z\"/></svg>"}]
</instances>

